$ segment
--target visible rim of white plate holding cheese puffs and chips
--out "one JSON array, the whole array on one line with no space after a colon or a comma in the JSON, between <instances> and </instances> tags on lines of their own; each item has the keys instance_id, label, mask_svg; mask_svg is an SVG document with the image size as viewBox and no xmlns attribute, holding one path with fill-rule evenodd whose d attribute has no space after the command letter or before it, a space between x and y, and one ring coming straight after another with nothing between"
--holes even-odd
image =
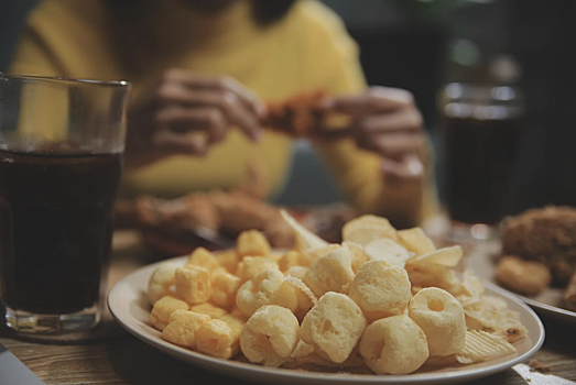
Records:
<instances>
[{"instance_id":1,"label":"visible rim of white plate holding cheese puffs and chips","mask_svg":"<svg viewBox=\"0 0 576 385\"><path fill-rule=\"evenodd\" d=\"M184 264L186 257L170 260ZM374 375L349 373L319 373L287 369L271 369L249 363L216 359L164 341L161 333L149 322L150 305L146 299L146 285L152 271L161 263L139 268L120 279L108 295L108 307L116 320L145 343L173 355L174 358L227 376L260 383L278 384L456 384L486 377L528 360L544 342L544 327L539 317L521 300L493 286L487 286L487 293L502 297L510 309L519 311L529 336L519 342L517 354L507 355L488 362L443 369L421 369L409 375Z\"/></svg>"}]
</instances>

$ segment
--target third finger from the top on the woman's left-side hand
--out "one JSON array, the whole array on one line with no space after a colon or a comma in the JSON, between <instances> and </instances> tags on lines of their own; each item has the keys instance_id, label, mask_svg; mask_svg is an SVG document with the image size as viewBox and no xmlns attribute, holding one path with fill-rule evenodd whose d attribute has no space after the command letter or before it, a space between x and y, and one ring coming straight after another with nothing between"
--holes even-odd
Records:
<instances>
[{"instance_id":1,"label":"third finger from the top on the woman's left-side hand","mask_svg":"<svg viewBox=\"0 0 576 385\"><path fill-rule=\"evenodd\" d=\"M176 132L204 131L210 144L224 141L229 129L228 120L216 107L166 107L157 111L156 123Z\"/></svg>"}]
</instances>

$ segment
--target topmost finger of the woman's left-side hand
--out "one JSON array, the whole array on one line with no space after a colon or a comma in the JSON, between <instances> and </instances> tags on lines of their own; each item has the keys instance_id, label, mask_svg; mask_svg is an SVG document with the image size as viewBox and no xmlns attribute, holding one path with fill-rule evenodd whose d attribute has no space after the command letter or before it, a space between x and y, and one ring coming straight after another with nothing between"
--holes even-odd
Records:
<instances>
[{"instance_id":1,"label":"topmost finger of the woman's left-side hand","mask_svg":"<svg viewBox=\"0 0 576 385\"><path fill-rule=\"evenodd\" d=\"M165 73L164 79L167 84L181 84L193 89L199 88L233 92L253 113L259 117L264 113L264 106L256 92L229 76L207 76L191 74L182 69L170 69Z\"/></svg>"}]
</instances>

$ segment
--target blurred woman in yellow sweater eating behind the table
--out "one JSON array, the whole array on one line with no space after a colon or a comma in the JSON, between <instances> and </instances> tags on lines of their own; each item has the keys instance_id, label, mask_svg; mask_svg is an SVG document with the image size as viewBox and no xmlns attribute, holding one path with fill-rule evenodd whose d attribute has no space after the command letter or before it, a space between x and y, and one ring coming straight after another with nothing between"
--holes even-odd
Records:
<instances>
[{"instance_id":1,"label":"blurred woman in yellow sweater eating behind the table","mask_svg":"<svg viewBox=\"0 0 576 385\"><path fill-rule=\"evenodd\" d=\"M122 196L231 188L257 157L272 197L286 180L292 142L263 130L265 102L323 89L328 111L352 118L349 139L316 143L352 206L399 227L436 211L411 95L367 87L355 42L322 3L118 3L44 0L10 72L132 82Z\"/></svg>"}]
</instances>

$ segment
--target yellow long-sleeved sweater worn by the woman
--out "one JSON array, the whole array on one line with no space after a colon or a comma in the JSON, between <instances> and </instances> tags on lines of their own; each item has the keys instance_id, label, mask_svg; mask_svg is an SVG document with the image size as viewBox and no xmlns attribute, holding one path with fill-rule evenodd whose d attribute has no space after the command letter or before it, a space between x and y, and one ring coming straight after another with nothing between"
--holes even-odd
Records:
<instances>
[{"instance_id":1,"label":"yellow long-sleeved sweater worn by the woman","mask_svg":"<svg viewBox=\"0 0 576 385\"><path fill-rule=\"evenodd\" d=\"M366 88L358 48L341 20L315 0L303 0L268 28L239 0L217 15L199 15L177 0L152 1L121 22L101 0L44 0L29 16L9 69L12 74L124 79L133 98L170 67L229 75L262 100L324 88L334 95ZM161 6L160 6L161 4ZM150 7L150 6L146 6ZM138 34L124 33L124 29ZM360 212L419 223L437 209L434 185L392 188L378 172L379 157L351 141L318 146L329 172ZM246 178L254 157L265 165L269 197L282 190L291 165L289 138L267 132L253 144L238 131L206 158L173 156L126 172L121 195L175 197ZM303 189L306 186L302 186Z\"/></svg>"}]
</instances>

